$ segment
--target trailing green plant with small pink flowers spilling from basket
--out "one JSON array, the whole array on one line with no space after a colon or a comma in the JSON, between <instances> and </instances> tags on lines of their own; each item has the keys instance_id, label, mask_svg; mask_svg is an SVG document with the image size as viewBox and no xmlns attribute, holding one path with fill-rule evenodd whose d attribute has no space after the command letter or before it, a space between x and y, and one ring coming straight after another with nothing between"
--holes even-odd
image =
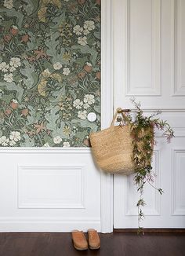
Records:
<instances>
[{"instance_id":1,"label":"trailing green plant with small pink flowers spilling from basket","mask_svg":"<svg viewBox=\"0 0 185 256\"><path fill-rule=\"evenodd\" d=\"M137 187L137 191L140 192L140 198L136 203L136 207L138 208L138 233L140 233L143 232L143 228L140 226L140 222L144 218L142 209L146 205L143 199L144 185L148 183L160 194L164 192L161 188L156 188L153 185L154 178L156 177L156 174L154 174L151 166L154 144L156 144L154 130L161 130L163 132L162 136L166 138L168 143L172 137L174 137L174 133L172 128L169 126L169 123L156 117L161 112L155 112L150 116L145 116L141 110L140 103L136 103L134 98L131 101L136 108L136 116L133 120L132 115L128 112L125 115L124 121L131 125L131 133L133 138L132 159L135 163L136 171L134 181Z\"/></svg>"}]
</instances>

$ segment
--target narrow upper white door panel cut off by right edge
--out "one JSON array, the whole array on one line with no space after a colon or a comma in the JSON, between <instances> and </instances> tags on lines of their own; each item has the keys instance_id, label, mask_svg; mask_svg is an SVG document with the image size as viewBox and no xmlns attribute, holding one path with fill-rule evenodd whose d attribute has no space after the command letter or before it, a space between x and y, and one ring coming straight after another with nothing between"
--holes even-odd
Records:
<instances>
[{"instance_id":1,"label":"narrow upper white door panel cut off by right edge","mask_svg":"<svg viewBox=\"0 0 185 256\"><path fill-rule=\"evenodd\" d=\"M185 96L185 2L172 0L172 96Z\"/></svg>"}]
</instances>

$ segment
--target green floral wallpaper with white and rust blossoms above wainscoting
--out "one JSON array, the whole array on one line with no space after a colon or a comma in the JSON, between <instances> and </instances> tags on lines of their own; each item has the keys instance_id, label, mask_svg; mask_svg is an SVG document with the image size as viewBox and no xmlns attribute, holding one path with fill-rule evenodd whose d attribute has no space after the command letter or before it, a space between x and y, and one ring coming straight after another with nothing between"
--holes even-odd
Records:
<instances>
[{"instance_id":1,"label":"green floral wallpaper with white and rust blossoms above wainscoting","mask_svg":"<svg viewBox=\"0 0 185 256\"><path fill-rule=\"evenodd\" d=\"M100 0L1 0L0 147L85 147L98 129Z\"/></svg>"}]
</instances>

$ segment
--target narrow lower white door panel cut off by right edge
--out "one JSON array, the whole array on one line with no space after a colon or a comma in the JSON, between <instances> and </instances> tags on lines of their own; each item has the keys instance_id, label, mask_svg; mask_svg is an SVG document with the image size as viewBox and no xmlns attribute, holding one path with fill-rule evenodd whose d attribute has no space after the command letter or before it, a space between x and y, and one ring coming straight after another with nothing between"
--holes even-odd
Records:
<instances>
[{"instance_id":1,"label":"narrow lower white door panel cut off by right edge","mask_svg":"<svg viewBox=\"0 0 185 256\"><path fill-rule=\"evenodd\" d=\"M185 216L185 148L172 149L172 215Z\"/></svg>"}]
</instances>

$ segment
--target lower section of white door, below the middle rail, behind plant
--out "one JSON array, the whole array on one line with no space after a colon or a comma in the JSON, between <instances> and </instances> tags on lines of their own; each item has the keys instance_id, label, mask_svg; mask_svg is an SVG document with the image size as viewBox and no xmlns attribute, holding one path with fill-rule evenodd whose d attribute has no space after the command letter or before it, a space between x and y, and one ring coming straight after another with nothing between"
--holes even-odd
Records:
<instances>
[{"instance_id":1,"label":"lower section of white door, below the middle rail, behind plant","mask_svg":"<svg viewBox=\"0 0 185 256\"><path fill-rule=\"evenodd\" d=\"M141 223L144 228L185 227L184 144L184 137L174 138L167 146L163 138L158 139L153 158L153 168L157 174L154 185L165 192L161 196L150 185L144 188L143 198L147 203L143 209L146 217ZM114 175L114 229L137 228L138 198L133 175Z\"/></svg>"}]
</instances>

